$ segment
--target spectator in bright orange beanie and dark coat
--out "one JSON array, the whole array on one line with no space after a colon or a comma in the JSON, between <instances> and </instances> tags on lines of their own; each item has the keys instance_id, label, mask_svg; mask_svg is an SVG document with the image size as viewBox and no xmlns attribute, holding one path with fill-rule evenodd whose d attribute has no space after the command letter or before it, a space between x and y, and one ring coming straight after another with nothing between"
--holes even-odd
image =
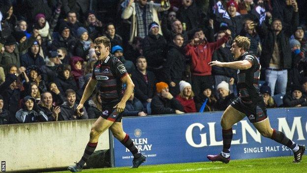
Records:
<instances>
[{"instance_id":1,"label":"spectator in bright orange beanie and dark coat","mask_svg":"<svg viewBox=\"0 0 307 173\"><path fill-rule=\"evenodd\" d=\"M173 97L168 90L165 82L156 83L157 94L151 102L152 114L181 114L184 113L184 107Z\"/></svg>"}]
</instances>

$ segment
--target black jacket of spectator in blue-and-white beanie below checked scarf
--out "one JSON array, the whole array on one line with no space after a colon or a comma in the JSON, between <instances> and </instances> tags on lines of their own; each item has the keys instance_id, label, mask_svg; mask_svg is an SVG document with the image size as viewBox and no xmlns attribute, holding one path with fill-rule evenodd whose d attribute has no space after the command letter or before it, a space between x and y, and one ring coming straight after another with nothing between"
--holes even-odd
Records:
<instances>
[{"instance_id":1,"label":"black jacket of spectator in blue-and-white beanie below checked scarf","mask_svg":"<svg viewBox=\"0 0 307 173\"><path fill-rule=\"evenodd\" d=\"M159 68L164 65L167 43L162 35L147 35L143 39L142 48L148 67Z\"/></svg>"}]
</instances>

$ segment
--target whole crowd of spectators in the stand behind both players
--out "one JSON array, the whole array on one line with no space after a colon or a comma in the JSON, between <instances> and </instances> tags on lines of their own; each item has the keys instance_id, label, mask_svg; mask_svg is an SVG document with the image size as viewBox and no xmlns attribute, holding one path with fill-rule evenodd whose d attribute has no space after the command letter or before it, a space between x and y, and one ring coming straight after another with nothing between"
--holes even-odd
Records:
<instances>
[{"instance_id":1,"label":"whole crowd of spectators in the stand behind both players","mask_svg":"<svg viewBox=\"0 0 307 173\"><path fill-rule=\"evenodd\" d=\"M97 118L76 106L107 36L135 84L124 116L225 110L237 35L261 64L271 107L307 106L306 0L0 0L0 124ZM123 86L124 89L124 86Z\"/></svg>"}]
</instances>

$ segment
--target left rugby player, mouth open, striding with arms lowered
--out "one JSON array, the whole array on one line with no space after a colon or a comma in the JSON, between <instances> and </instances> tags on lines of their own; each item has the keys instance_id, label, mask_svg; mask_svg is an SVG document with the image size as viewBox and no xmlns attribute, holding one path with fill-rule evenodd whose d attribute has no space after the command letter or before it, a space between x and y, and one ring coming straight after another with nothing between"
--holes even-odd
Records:
<instances>
[{"instance_id":1,"label":"left rugby player, mouth open, striding with arms lowered","mask_svg":"<svg viewBox=\"0 0 307 173\"><path fill-rule=\"evenodd\" d=\"M68 170L73 173L82 171L84 164L97 146L99 136L108 128L110 128L114 137L120 140L133 154L132 168L138 168L146 158L135 147L129 135L123 132L122 125L122 113L126 101L132 94L134 84L123 63L110 54L111 43L109 38L106 36L97 37L94 40L94 46L98 61L94 64L92 77L84 90L80 104L77 106L77 113L81 114L80 110L83 108L83 104L92 95L96 85L100 90L102 112L92 126L90 141L81 160L75 165L69 166ZM124 93L123 83L126 84Z\"/></svg>"}]
</instances>

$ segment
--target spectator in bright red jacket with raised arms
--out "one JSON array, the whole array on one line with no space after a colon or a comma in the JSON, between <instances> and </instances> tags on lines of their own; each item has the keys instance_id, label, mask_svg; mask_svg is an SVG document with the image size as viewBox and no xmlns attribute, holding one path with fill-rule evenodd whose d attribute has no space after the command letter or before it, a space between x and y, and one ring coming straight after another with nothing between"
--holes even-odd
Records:
<instances>
[{"instance_id":1,"label":"spectator in bright red jacket with raised arms","mask_svg":"<svg viewBox=\"0 0 307 173\"><path fill-rule=\"evenodd\" d=\"M202 30L195 32L191 43L185 47L186 56L191 57L192 85L196 95L200 93L201 86L204 84L213 85L211 66L213 52L228 40L231 35L230 30L225 31L225 36L216 42L209 43Z\"/></svg>"}]
</instances>

